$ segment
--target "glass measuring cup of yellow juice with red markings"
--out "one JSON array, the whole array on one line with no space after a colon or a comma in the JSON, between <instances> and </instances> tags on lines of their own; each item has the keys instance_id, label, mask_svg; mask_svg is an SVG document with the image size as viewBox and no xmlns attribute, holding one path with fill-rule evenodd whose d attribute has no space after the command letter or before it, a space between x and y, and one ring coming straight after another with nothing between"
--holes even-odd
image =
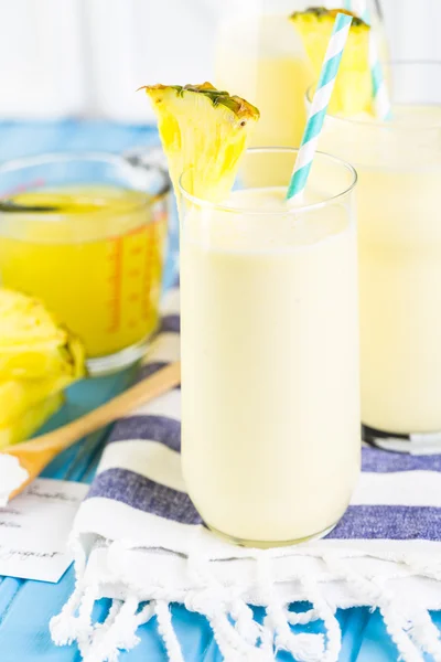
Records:
<instances>
[{"instance_id":1,"label":"glass measuring cup of yellow juice with red markings","mask_svg":"<svg viewBox=\"0 0 441 662\"><path fill-rule=\"evenodd\" d=\"M0 211L1 282L41 298L84 341L92 374L135 362L157 328L169 191L157 164L110 154L0 167L0 199L31 207Z\"/></svg>"}]
</instances>

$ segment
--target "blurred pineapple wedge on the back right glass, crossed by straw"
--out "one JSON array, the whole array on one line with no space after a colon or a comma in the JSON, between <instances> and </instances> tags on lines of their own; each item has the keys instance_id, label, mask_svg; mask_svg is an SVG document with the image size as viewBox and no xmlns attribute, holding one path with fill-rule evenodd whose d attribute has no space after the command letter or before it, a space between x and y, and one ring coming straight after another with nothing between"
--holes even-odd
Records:
<instances>
[{"instance_id":1,"label":"blurred pineapple wedge on the back right glass, crossed by straw","mask_svg":"<svg viewBox=\"0 0 441 662\"><path fill-rule=\"evenodd\" d=\"M304 50L318 78L335 15L338 12L352 15L354 19L343 51L329 113L344 116L358 113L373 114L373 83L368 62L369 25L345 9L325 9L324 7L311 7L305 11L297 11L290 17L290 20L302 39Z\"/></svg>"}]
</instances>

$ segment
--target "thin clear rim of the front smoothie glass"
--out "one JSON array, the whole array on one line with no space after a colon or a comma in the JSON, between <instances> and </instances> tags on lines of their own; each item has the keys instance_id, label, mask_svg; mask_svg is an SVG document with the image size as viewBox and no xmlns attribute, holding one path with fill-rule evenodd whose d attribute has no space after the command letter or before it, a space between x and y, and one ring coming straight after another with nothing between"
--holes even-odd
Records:
<instances>
[{"instance_id":1,"label":"thin clear rim of the front smoothie glass","mask_svg":"<svg viewBox=\"0 0 441 662\"><path fill-rule=\"evenodd\" d=\"M257 154L257 153L299 153L300 148L298 147L250 147L245 151L245 154ZM340 200L341 197L345 197L346 195L348 195L349 193L352 193L352 191L355 189L355 185L357 183L358 180L358 174L357 171L355 170L355 168L353 166L351 166L351 163L348 163L347 161L345 161L344 159L340 159L338 157L334 157L333 154L329 154L327 152L322 152L322 151L316 151L314 154L314 158L316 157L324 157L325 159L330 160L332 163L337 164L340 167L343 167L344 170L346 170L346 172L348 172L352 175L352 181L349 183L348 186L346 186L344 189L344 191L341 191L340 193L336 193L335 195L331 195L329 197L326 197L325 200L321 200L320 202L314 202L311 204L301 204L301 205L297 205L297 206L292 206L292 207L287 207L286 210L280 210L280 211L275 211L275 212L270 212L271 216L286 216L287 214L299 214L302 212L309 212L311 210L316 210L316 209L321 209L326 206L327 204L331 204L333 202L335 202L336 200ZM189 200L190 202L192 202L193 204L196 204L200 207L203 209L207 209L207 210L216 210L218 212L227 212L227 213L241 213L241 214L249 214L249 215L267 215L268 216L268 210L257 210L257 209L250 209L250 207L234 207L227 204L223 204L223 203L217 203L217 202L211 202L209 200L204 200L203 197L198 197L197 195L193 195L192 193L189 193L183 184L183 178L185 177L185 173L189 172L189 170L185 170L181 177L179 178L179 192L180 194L185 199ZM263 189L265 186L258 186L258 189ZM252 188L251 188L252 190Z\"/></svg>"}]
</instances>

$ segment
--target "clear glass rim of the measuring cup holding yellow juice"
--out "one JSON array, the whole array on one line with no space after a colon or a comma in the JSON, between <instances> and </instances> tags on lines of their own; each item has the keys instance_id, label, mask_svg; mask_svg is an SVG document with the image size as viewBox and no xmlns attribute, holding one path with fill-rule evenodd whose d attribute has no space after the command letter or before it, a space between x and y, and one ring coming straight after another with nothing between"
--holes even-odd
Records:
<instances>
[{"instance_id":1,"label":"clear glass rim of the measuring cup holding yellow juice","mask_svg":"<svg viewBox=\"0 0 441 662\"><path fill-rule=\"evenodd\" d=\"M149 148L148 148L149 149ZM146 170L146 169L152 169L155 172L158 172L162 179L162 183L159 188L158 193L151 194L151 200L148 201L147 204L141 203L141 204L133 204L133 207L130 209L137 209L137 207L142 207L142 206L150 206L151 204L163 200L171 191L171 181L170 178L166 173L166 171L161 168L160 164L158 163L151 163L150 166L135 166L133 163L131 163L129 160L125 159L120 154L112 154L111 152L104 152L104 151L72 151L72 152L44 152L41 154L33 154L33 156L29 156L29 157L19 157L17 159L9 159L7 161L3 161L2 163L0 163L0 182L1 182L1 177L3 174L8 174L11 172L19 172L20 170L24 170L26 168L32 168L32 167L37 167L37 166L49 166L51 163L66 163L69 161L88 161L88 162L101 162L101 163L108 163L108 164L112 164L117 168L122 168L123 170L127 171L137 171L137 170ZM142 189L133 189L133 191L140 191L141 193L146 193L146 191L143 191ZM0 200L4 199L8 196L3 196L0 195ZM8 214L8 212L1 212L2 214ZM30 212L32 213L32 212ZM100 213L100 210L97 210L96 212L90 212L92 214ZM43 213L44 215L44 213ZM61 212L60 214L57 213L51 213L51 216L69 216L69 215L75 215L75 213L63 213Z\"/></svg>"}]
</instances>

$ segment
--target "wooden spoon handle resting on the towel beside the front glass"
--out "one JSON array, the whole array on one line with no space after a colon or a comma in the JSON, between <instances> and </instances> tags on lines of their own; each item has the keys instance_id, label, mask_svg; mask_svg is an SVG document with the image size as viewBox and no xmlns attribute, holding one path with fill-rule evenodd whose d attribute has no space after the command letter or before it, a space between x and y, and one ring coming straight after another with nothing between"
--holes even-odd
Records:
<instances>
[{"instance_id":1,"label":"wooden spoon handle resting on the towel beside the front glass","mask_svg":"<svg viewBox=\"0 0 441 662\"><path fill-rule=\"evenodd\" d=\"M41 435L40 437L31 439L30 441L25 441L24 444L4 448L2 449L2 452L8 452L9 449L20 449L20 451L32 450L34 452L53 449L54 451L58 452L65 448L68 448L75 444L75 441L78 441L78 439L82 439L86 435L94 433L109 423L112 423L139 405L142 405L154 397L162 395L166 391L170 391L170 388L178 386L180 381L181 364L179 362L170 363L150 377L146 377L135 386L131 386L131 388L125 391L125 393L117 395L109 402L100 405L93 412L85 414L80 418L68 423L67 425L64 425L52 433L47 433L46 435Z\"/></svg>"}]
</instances>

